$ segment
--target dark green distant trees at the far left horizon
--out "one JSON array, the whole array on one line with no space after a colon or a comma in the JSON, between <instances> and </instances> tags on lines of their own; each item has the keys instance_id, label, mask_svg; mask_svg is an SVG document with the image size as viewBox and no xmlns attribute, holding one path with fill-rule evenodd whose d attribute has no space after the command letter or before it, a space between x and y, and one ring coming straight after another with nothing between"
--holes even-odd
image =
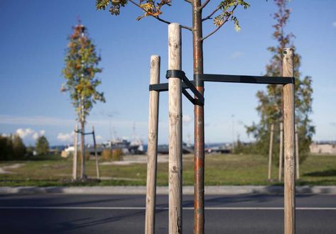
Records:
<instances>
[{"instance_id":1,"label":"dark green distant trees at the far left horizon","mask_svg":"<svg viewBox=\"0 0 336 234\"><path fill-rule=\"evenodd\" d=\"M46 155L49 151L49 143L44 135L36 140L36 146L28 146L17 135L0 134L0 160L23 160L33 156L34 150L37 155Z\"/></svg>"}]
</instances>

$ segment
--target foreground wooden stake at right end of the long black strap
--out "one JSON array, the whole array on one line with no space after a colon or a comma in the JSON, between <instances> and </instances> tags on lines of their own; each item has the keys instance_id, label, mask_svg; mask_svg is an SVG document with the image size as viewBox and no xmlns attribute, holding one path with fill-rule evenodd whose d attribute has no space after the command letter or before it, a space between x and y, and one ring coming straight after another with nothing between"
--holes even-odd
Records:
<instances>
[{"instance_id":1,"label":"foreground wooden stake at right end of the long black strap","mask_svg":"<svg viewBox=\"0 0 336 234\"><path fill-rule=\"evenodd\" d=\"M283 77L293 77L293 75L293 50L286 48L283 50ZM294 84L286 84L283 87L285 234L296 232L294 108Z\"/></svg>"}]
</instances>

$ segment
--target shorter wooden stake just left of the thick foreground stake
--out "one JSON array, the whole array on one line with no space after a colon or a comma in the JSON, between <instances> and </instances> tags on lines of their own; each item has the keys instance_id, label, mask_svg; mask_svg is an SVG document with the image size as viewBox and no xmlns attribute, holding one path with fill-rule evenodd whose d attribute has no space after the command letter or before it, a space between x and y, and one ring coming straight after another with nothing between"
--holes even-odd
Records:
<instances>
[{"instance_id":1,"label":"shorter wooden stake just left of the thick foreground stake","mask_svg":"<svg viewBox=\"0 0 336 234\"><path fill-rule=\"evenodd\" d=\"M149 84L160 83L160 56L151 56L151 78ZM145 234L155 233L156 166L158 162L158 91L149 92L148 118L148 163L146 192Z\"/></svg>"}]
</instances>

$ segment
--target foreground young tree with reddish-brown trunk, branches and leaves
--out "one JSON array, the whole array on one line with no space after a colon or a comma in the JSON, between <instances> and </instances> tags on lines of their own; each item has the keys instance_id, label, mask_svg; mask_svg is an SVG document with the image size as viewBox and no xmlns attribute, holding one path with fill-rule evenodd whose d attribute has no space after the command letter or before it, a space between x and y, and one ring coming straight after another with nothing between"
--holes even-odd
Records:
<instances>
[{"instance_id":1,"label":"foreground young tree with reddish-brown trunk, branches and leaves","mask_svg":"<svg viewBox=\"0 0 336 234\"><path fill-rule=\"evenodd\" d=\"M137 20L143 17L151 16L163 23L170 23L161 18L163 15L163 7L170 6L172 0L96 0L97 9L107 9L109 12L118 16L121 8L124 8L126 4L132 4L143 11L143 15L139 16ZM237 16L234 15L239 6L244 9L249 7L249 4L243 0L224 0L220 1L215 9L207 11L205 17L202 16L202 12L207 10L207 6L210 0L185 0L185 4L190 4L193 15L193 26L181 26L185 30L190 30L193 33L193 72L194 74L203 74L203 42L211 35L216 33L225 23L232 21L234 28L239 31L239 21ZM202 26L212 20L215 27L207 35L203 35ZM195 79L195 86L201 94L204 93L204 84ZM204 233L204 107L195 105L195 233Z\"/></svg>"}]
</instances>

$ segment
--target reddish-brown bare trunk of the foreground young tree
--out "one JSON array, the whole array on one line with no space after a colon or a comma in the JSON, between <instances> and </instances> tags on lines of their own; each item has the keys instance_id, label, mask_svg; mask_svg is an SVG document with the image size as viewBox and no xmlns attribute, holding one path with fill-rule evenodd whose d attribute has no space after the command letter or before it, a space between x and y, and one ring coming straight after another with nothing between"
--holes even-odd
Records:
<instances>
[{"instance_id":1,"label":"reddish-brown bare trunk of the foreground young tree","mask_svg":"<svg viewBox=\"0 0 336 234\"><path fill-rule=\"evenodd\" d=\"M193 72L203 74L202 10L201 1L193 0ZM197 78L195 86L204 94L204 83ZM195 105L195 180L194 233L204 233L204 106Z\"/></svg>"}]
</instances>

